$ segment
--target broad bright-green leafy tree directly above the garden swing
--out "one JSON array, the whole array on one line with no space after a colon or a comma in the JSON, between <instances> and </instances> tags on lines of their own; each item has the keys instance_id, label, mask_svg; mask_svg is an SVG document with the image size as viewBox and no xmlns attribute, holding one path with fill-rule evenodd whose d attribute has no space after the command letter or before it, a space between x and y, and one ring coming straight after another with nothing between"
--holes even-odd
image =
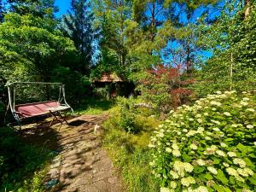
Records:
<instances>
[{"instance_id":1,"label":"broad bright-green leafy tree directly above the garden swing","mask_svg":"<svg viewBox=\"0 0 256 192\"><path fill-rule=\"evenodd\" d=\"M53 69L73 60L73 42L54 30L55 22L32 15L9 14L0 26L1 75L49 80Z\"/></svg>"}]
</instances>

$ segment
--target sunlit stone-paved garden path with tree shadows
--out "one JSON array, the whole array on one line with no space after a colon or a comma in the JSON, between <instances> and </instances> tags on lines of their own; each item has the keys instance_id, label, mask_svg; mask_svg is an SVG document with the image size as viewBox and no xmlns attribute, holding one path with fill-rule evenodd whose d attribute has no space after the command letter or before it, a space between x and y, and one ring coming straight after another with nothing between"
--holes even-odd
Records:
<instances>
[{"instance_id":1,"label":"sunlit stone-paved garden path with tree shadows","mask_svg":"<svg viewBox=\"0 0 256 192\"><path fill-rule=\"evenodd\" d=\"M104 115L84 115L69 120L58 131L60 153L46 177L49 191L122 192L118 170L101 147ZM58 130L59 125L53 127Z\"/></svg>"}]
</instances>

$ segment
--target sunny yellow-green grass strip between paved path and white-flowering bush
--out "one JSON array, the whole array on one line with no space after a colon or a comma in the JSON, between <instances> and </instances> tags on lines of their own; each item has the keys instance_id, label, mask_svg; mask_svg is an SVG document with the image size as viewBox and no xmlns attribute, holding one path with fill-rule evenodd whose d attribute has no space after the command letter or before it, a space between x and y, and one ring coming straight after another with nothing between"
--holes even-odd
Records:
<instances>
[{"instance_id":1,"label":"sunny yellow-green grass strip between paved path and white-flowering bush","mask_svg":"<svg viewBox=\"0 0 256 192\"><path fill-rule=\"evenodd\" d=\"M119 127L119 118L117 110L104 123L104 146L108 149L114 165L122 172L125 189L131 192L160 191L160 185L151 174L151 167L148 165L150 160L149 138L154 127L160 122L138 114L136 125L141 127L141 131L135 135Z\"/></svg>"}]
</instances>

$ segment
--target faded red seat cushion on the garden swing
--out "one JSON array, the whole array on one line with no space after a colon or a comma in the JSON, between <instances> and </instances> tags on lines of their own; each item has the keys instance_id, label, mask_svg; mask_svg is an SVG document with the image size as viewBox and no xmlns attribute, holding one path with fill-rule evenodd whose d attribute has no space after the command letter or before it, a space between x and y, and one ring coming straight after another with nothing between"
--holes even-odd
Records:
<instances>
[{"instance_id":1,"label":"faded red seat cushion on the garden swing","mask_svg":"<svg viewBox=\"0 0 256 192\"><path fill-rule=\"evenodd\" d=\"M48 102L33 102L15 106L15 111L18 113L21 119L38 116L41 114L49 113L46 108L55 108L60 106L59 102L48 101Z\"/></svg>"}]
</instances>

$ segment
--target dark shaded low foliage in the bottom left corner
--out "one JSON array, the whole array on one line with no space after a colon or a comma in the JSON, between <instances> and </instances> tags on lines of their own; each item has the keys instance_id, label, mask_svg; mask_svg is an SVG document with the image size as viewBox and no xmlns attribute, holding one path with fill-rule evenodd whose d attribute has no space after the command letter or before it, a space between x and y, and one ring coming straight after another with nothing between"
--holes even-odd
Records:
<instances>
[{"instance_id":1,"label":"dark shaded low foliage in the bottom left corner","mask_svg":"<svg viewBox=\"0 0 256 192\"><path fill-rule=\"evenodd\" d=\"M0 133L1 191L43 191L44 171L37 171L51 159L50 152L24 143L9 127L1 127Z\"/></svg>"}]
</instances>

